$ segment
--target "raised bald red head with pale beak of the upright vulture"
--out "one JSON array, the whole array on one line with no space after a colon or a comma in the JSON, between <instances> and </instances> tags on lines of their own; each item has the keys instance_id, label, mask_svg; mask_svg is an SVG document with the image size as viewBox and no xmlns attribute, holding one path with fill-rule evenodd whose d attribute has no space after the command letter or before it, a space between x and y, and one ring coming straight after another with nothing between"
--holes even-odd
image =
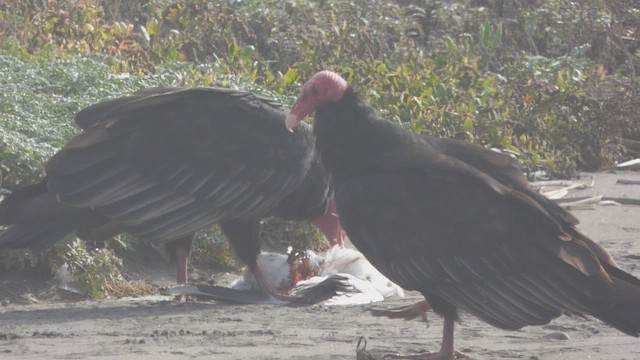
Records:
<instances>
[{"instance_id":1,"label":"raised bald red head with pale beak of the upright vulture","mask_svg":"<svg viewBox=\"0 0 640 360\"><path fill-rule=\"evenodd\" d=\"M347 87L347 82L334 72L324 70L313 75L302 87L298 100L293 104L293 108L287 116L285 122L287 129L291 130L296 127L305 116L320 106L340 101Z\"/></svg>"}]
</instances>

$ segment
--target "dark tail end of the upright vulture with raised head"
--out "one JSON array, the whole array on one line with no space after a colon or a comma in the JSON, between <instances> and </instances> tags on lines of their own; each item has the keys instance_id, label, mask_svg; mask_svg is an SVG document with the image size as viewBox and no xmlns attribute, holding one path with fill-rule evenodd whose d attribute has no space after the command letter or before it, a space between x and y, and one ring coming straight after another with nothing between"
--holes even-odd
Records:
<instances>
[{"instance_id":1,"label":"dark tail end of the upright vulture with raised head","mask_svg":"<svg viewBox=\"0 0 640 360\"><path fill-rule=\"evenodd\" d=\"M616 304L593 315L627 335L640 337L640 279L611 265L605 268L613 280Z\"/></svg>"}]
</instances>

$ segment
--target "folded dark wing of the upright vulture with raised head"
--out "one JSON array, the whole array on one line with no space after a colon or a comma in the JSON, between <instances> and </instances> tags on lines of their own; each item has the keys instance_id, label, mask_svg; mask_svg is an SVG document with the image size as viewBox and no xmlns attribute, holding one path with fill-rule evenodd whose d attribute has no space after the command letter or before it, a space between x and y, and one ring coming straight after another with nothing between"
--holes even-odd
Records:
<instances>
[{"instance_id":1,"label":"folded dark wing of the upright vulture with raised head","mask_svg":"<svg viewBox=\"0 0 640 360\"><path fill-rule=\"evenodd\" d=\"M591 245L526 191L419 146L354 174L336 184L349 237L436 311L455 316L459 307L517 329L612 306L611 281Z\"/></svg>"}]
</instances>

